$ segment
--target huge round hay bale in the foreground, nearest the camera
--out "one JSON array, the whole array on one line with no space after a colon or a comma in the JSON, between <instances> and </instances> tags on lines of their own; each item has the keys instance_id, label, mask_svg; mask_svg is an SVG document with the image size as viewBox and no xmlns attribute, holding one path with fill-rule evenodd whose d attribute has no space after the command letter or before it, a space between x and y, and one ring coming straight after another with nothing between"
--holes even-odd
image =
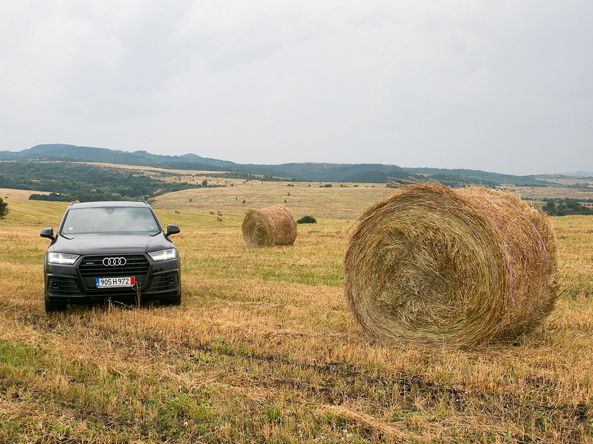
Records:
<instances>
[{"instance_id":1,"label":"huge round hay bale in the foreground, nearest the camera","mask_svg":"<svg viewBox=\"0 0 593 444\"><path fill-rule=\"evenodd\" d=\"M558 296L546 216L482 187L410 185L378 202L359 219L344 267L356 320L387 343L514 340Z\"/></svg>"}]
</instances>

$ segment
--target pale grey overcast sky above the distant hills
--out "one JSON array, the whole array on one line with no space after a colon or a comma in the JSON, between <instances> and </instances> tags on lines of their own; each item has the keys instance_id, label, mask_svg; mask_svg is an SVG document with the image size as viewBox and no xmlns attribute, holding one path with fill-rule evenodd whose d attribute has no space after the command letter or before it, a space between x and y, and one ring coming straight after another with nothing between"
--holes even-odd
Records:
<instances>
[{"instance_id":1,"label":"pale grey overcast sky above the distant hills","mask_svg":"<svg viewBox=\"0 0 593 444\"><path fill-rule=\"evenodd\" d=\"M593 2L0 4L0 150L593 171Z\"/></svg>"}]
</instances>

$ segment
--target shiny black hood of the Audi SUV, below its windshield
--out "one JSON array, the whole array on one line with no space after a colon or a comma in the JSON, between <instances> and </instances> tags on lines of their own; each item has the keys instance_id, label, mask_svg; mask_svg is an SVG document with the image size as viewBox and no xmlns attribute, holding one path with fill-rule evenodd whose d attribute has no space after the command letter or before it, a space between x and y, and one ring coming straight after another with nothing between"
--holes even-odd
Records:
<instances>
[{"instance_id":1,"label":"shiny black hood of the Audi SUV, below its windshield","mask_svg":"<svg viewBox=\"0 0 593 444\"><path fill-rule=\"evenodd\" d=\"M49 251L71 255L119 255L148 253L174 247L163 233L156 236L58 236Z\"/></svg>"}]
</instances>

